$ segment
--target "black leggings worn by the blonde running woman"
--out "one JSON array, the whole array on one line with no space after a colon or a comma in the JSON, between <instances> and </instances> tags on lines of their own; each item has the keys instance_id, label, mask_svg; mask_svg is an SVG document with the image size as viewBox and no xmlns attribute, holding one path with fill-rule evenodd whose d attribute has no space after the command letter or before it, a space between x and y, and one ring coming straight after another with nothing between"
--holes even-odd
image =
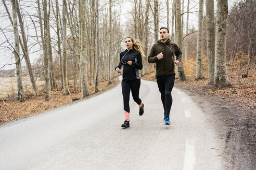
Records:
<instances>
[{"instance_id":1,"label":"black leggings worn by the blonde running woman","mask_svg":"<svg viewBox=\"0 0 256 170\"><path fill-rule=\"evenodd\" d=\"M138 105L142 103L142 100L139 98L139 87L140 87L140 79L137 80L122 80L122 93L123 93L123 109L130 113L130 91L132 90L132 96L134 102Z\"/></svg>"}]
</instances>

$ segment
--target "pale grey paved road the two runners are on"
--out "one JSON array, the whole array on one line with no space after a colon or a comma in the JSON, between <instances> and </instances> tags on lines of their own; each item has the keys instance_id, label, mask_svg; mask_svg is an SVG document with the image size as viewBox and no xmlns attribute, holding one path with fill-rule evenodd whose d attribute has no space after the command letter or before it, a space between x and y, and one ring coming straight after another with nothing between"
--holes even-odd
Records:
<instances>
[{"instance_id":1,"label":"pale grey paved road the two runners are on","mask_svg":"<svg viewBox=\"0 0 256 170\"><path fill-rule=\"evenodd\" d=\"M120 84L1 125L0 169L224 169L221 141L188 95L173 89L169 126L156 82L142 80L140 98L145 113L131 98L127 129Z\"/></svg>"}]
</instances>

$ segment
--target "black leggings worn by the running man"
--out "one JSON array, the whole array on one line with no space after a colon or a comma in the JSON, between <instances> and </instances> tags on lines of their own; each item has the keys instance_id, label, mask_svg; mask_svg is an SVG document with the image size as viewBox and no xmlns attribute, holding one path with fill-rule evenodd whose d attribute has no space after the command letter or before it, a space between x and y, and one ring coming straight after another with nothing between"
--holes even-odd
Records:
<instances>
[{"instance_id":1,"label":"black leggings worn by the running man","mask_svg":"<svg viewBox=\"0 0 256 170\"><path fill-rule=\"evenodd\" d=\"M175 74L167 76L157 76L157 85L161 93L163 109L166 111L167 117L170 116L172 107L172 88L174 86Z\"/></svg>"}]
</instances>

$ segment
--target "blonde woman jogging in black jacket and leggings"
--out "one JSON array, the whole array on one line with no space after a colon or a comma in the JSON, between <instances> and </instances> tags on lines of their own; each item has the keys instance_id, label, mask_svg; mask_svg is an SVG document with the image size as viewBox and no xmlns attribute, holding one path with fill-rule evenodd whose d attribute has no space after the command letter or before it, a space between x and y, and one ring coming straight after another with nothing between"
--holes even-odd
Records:
<instances>
[{"instance_id":1,"label":"blonde woman jogging in black jacket and leggings","mask_svg":"<svg viewBox=\"0 0 256 170\"><path fill-rule=\"evenodd\" d=\"M126 37L124 40L126 50L120 53L120 63L115 68L118 73L122 74L122 93L123 93L123 108L125 121L121 125L122 127L130 127L130 91L134 102L139 106L139 115L144 113L144 104L139 98L140 76L138 69L142 69L142 55L144 55L142 49L142 43L138 40L133 40L131 37Z\"/></svg>"}]
</instances>

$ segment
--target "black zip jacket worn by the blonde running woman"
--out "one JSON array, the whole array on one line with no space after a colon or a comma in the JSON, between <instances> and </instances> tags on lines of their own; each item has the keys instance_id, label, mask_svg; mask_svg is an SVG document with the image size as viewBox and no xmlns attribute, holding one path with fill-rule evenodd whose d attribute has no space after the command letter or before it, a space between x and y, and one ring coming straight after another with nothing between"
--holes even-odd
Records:
<instances>
[{"instance_id":1,"label":"black zip jacket worn by the blonde running woman","mask_svg":"<svg viewBox=\"0 0 256 170\"><path fill-rule=\"evenodd\" d=\"M127 64L128 61L132 61L132 65ZM140 79L139 69L142 69L142 55L135 49L125 50L120 53L120 62L118 68L123 67L123 80L136 80ZM117 69L114 68L115 70Z\"/></svg>"}]
</instances>

